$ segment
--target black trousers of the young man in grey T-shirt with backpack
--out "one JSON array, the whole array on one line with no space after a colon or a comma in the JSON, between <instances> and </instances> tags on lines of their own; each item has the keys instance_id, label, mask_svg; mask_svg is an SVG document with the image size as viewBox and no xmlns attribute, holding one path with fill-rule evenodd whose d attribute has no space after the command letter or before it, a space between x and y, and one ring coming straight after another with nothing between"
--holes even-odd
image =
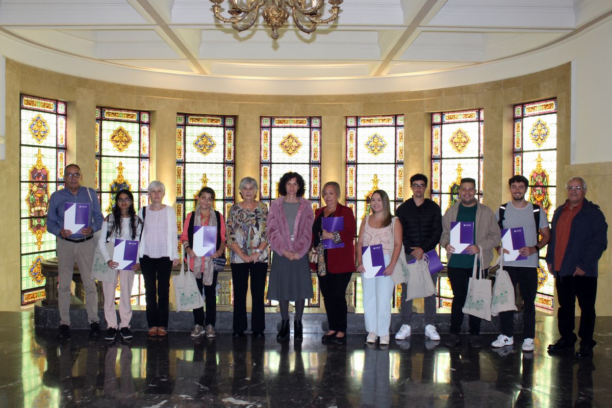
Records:
<instances>
[{"instance_id":1,"label":"black trousers of the young man in grey T-shirt with backpack","mask_svg":"<svg viewBox=\"0 0 612 408\"><path fill-rule=\"evenodd\" d=\"M535 337L535 293L537 292L537 268L525 268L516 266L504 266L504 270L510 275L515 292L521 292L523 298L523 332L525 338ZM512 337L514 323L514 311L499 313L499 325L504 336Z\"/></svg>"}]
</instances>

